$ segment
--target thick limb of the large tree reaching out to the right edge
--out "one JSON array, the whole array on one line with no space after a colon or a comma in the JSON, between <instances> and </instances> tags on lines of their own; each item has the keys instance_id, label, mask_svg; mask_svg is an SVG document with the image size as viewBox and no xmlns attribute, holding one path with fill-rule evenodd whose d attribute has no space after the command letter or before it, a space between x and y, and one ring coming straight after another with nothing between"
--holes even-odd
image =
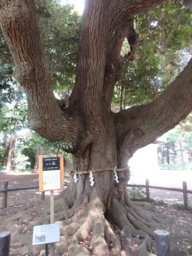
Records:
<instances>
[{"instance_id":1,"label":"thick limb of the large tree reaching out to the right edge","mask_svg":"<svg viewBox=\"0 0 192 256\"><path fill-rule=\"evenodd\" d=\"M118 146L130 158L185 119L192 110L192 59L153 102L114 113Z\"/></svg>"}]
</instances>

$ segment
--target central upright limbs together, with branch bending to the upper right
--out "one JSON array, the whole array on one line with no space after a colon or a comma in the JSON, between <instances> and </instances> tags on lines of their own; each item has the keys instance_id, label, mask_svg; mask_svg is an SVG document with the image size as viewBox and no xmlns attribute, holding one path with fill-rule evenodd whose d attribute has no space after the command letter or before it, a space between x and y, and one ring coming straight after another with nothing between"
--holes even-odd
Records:
<instances>
[{"instance_id":1,"label":"central upright limbs together, with branch bending to the upper right","mask_svg":"<svg viewBox=\"0 0 192 256\"><path fill-rule=\"evenodd\" d=\"M121 46L128 33L128 19L163 2L165 0L86 1L76 82L69 106L76 105L86 115L92 115L93 99L99 102L103 95L104 101L110 104Z\"/></svg>"}]
</instances>

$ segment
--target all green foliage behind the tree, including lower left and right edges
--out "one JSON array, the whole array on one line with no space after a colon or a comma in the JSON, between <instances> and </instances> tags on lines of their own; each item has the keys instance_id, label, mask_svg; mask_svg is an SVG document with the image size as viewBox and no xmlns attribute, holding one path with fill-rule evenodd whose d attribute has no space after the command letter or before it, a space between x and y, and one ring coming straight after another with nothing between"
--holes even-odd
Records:
<instances>
[{"instance_id":1,"label":"all green foliage behind the tree, including lower left and right edges","mask_svg":"<svg viewBox=\"0 0 192 256\"><path fill-rule=\"evenodd\" d=\"M66 98L75 82L81 17L73 7L61 5L56 0L37 0L36 13L54 93L59 99ZM121 76L116 83L112 102L116 107L121 105L125 108L153 100L186 65L191 56L191 14L179 1L172 1L162 5L162 8L155 8L134 18L140 40L135 60L123 61L121 64ZM122 58L128 51L129 44L125 39ZM49 146L49 151L57 151L59 147L59 144L50 145L31 132L23 138L18 135L19 130L29 128L26 111L25 94L16 83L11 56L0 31L1 163L7 154L6 148L12 133L16 134L16 155L25 155L32 168L39 145ZM182 131L185 130L179 132L182 139L169 135L166 145L172 162L177 162L176 140L184 141L190 149L192 147L189 123L186 121L180 125ZM180 130L178 127L176 129ZM175 131L173 133L178 135ZM163 151L166 151L165 147Z\"/></svg>"}]
</instances>

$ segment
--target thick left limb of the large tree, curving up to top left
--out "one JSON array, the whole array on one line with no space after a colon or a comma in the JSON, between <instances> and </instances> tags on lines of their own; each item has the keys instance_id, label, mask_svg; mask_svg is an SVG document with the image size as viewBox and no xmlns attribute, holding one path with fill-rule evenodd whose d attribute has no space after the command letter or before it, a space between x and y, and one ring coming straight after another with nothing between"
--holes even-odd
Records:
<instances>
[{"instance_id":1,"label":"thick left limb of the large tree, curving up to top left","mask_svg":"<svg viewBox=\"0 0 192 256\"><path fill-rule=\"evenodd\" d=\"M80 120L62 112L50 87L33 0L1 0L0 28L25 90L29 125L50 141L76 144Z\"/></svg>"}]
</instances>

